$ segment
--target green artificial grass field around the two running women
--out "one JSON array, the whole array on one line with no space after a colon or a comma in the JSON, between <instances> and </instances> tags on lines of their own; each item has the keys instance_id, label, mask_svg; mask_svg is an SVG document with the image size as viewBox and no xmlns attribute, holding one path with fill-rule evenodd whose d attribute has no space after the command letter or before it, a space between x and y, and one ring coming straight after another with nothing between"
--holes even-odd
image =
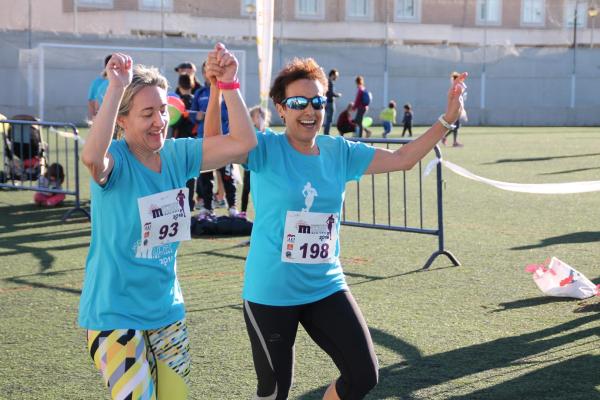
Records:
<instances>
[{"instance_id":1,"label":"green artificial grass field around the two running women","mask_svg":"<svg viewBox=\"0 0 600 400\"><path fill-rule=\"evenodd\" d=\"M466 127L465 147L442 152L497 180L598 180L598 135ZM88 179L84 171L86 202ZM600 283L600 194L504 192L448 170L444 181L446 247L460 267L439 258L420 271L433 237L342 228L342 263L380 363L368 399L600 399L600 301L543 297L523 271L554 255ZM365 177L361 190L368 184ZM402 209L401 193L392 195ZM349 206L354 199L349 194ZM427 223L432 204L425 198ZM61 222L69 205L40 209L32 192L0 191L2 399L108 399L76 323L90 225L79 216ZM255 387L240 307L242 240L180 247L193 399L249 399ZM335 366L303 331L296 356L290 398L320 399Z\"/></svg>"}]
</instances>

